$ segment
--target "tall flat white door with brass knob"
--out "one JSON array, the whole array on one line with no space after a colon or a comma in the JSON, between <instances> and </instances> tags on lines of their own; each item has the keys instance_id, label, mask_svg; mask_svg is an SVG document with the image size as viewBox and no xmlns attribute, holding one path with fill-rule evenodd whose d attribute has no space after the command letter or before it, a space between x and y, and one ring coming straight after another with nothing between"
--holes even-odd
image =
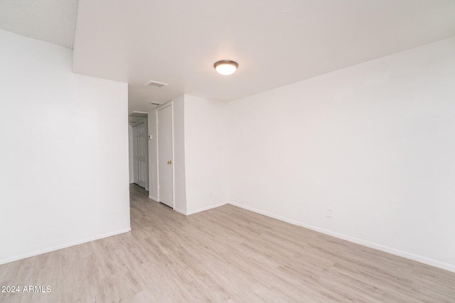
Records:
<instances>
[{"instance_id":1,"label":"tall flat white door with brass knob","mask_svg":"<svg viewBox=\"0 0 455 303\"><path fill-rule=\"evenodd\" d=\"M173 208L172 104L158 115L158 192L159 201Z\"/></svg>"}]
</instances>

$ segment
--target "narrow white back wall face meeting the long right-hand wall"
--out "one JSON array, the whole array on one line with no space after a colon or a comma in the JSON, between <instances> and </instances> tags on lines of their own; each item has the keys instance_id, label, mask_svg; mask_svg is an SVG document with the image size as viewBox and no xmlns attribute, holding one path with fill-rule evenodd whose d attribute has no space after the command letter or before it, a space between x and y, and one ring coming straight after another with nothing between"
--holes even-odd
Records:
<instances>
[{"instance_id":1,"label":"narrow white back wall face meeting the long right-hand wall","mask_svg":"<svg viewBox=\"0 0 455 303\"><path fill-rule=\"evenodd\" d=\"M226 204L225 103L184 96L187 214Z\"/></svg>"}]
</instances>

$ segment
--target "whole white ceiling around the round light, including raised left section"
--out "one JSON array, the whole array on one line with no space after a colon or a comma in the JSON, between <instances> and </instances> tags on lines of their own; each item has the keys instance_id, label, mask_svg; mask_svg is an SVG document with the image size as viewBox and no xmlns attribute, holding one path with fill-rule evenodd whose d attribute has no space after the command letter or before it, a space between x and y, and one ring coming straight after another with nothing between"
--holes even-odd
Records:
<instances>
[{"instance_id":1,"label":"whole white ceiling around the round light, including raised left section","mask_svg":"<svg viewBox=\"0 0 455 303\"><path fill-rule=\"evenodd\" d=\"M75 6L0 0L0 26L71 47ZM452 35L454 0L80 0L73 69L128 82L131 113L181 94L230 101ZM234 75L215 73L225 59Z\"/></svg>"}]
</instances>

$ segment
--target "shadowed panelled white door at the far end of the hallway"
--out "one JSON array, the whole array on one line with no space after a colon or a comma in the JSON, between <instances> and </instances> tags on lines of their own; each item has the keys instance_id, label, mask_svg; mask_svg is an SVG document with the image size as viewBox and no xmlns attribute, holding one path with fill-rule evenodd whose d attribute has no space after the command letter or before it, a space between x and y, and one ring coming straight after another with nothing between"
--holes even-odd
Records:
<instances>
[{"instance_id":1,"label":"shadowed panelled white door at the far end of the hallway","mask_svg":"<svg viewBox=\"0 0 455 303\"><path fill-rule=\"evenodd\" d=\"M134 183L145 189L148 188L149 179L147 144L147 128L144 121L137 124L137 126L133 126L133 179Z\"/></svg>"}]
</instances>

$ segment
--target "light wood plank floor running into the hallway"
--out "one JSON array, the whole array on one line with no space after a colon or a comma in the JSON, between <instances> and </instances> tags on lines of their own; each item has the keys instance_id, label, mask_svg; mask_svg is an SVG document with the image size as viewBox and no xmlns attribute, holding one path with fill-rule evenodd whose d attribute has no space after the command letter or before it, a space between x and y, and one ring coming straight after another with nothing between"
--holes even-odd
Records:
<instances>
[{"instance_id":1,"label":"light wood plank floor running into the hallway","mask_svg":"<svg viewBox=\"0 0 455 303\"><path fill-rule=\"evenodd\" d=\"M455 273L231 205L192 216L130 187L132 232L0 265L0 302L455 302Z\"/></svg>"}]
</instances>

